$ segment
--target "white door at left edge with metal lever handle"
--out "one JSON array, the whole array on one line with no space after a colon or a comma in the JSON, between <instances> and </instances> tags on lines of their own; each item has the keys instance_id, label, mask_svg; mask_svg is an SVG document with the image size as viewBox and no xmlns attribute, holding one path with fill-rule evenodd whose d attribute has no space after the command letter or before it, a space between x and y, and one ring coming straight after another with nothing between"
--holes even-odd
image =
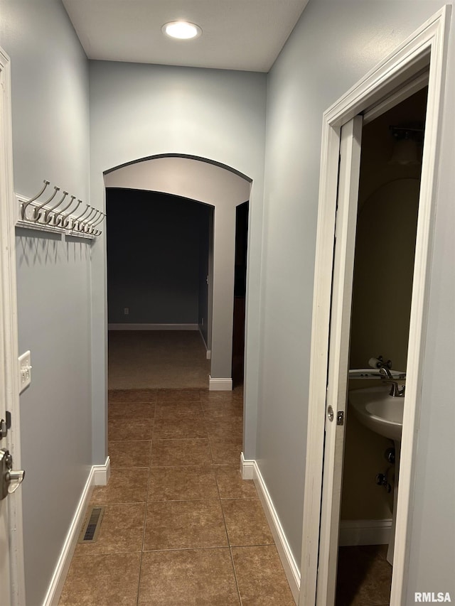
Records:
<instances>
[{"instance_id":1,"label":"white door at left edge with metal lever handle","mask_svg":"<svg viewBox=\"0 0 455 606\"><path fill-rule=\"evenodd\" d=\"M8 468L20 464L14 185L11 134L10 61L0 48L0 497ZM6 410L11 428L6 431ZM1 423L4 421L4 423ZM9 419L8 419L9 421ZM10 462L9 454L14 461ZM11 487L17 482L12 482ZM23 597L21 494L0 499L0 604L20 605ZM14 529L14 531L12 530Z\"/></svg>"}]
</instances>

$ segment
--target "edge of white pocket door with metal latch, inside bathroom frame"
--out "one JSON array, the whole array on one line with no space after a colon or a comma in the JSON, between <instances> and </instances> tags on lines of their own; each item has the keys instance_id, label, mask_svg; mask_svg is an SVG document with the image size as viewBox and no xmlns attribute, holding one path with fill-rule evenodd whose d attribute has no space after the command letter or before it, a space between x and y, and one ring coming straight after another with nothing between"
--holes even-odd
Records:
<instances>
[{"instance_id":1,"label":"edge of white pocket door with metal latch, inside bathroom frame","mask_svg":"<svg viewBox=\"0 0 455 606\"><path fill-rule=\"evenodd\" d=\"M341 129L338 208L328 349L326 439L324 445L321 534L316 605L333 606L336 597L338 532L343 475L344 416L348 391L350 308L360 174L361 116Z\"/></svg>"}]
</instances>

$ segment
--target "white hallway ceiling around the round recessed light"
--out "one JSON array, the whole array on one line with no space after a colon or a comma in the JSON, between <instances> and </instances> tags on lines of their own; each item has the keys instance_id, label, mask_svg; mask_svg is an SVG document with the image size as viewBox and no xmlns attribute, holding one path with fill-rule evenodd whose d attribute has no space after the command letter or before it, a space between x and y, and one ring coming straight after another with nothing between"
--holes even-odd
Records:
<instances>
[{"instance_id":1,"label":"white hallway ceiling around the round recessed light","mask_svg":"<svg viewBox=\"0 0 455 606\"><path fill-rule=\"evenodd\" d=\"M308 0L62 0L89 59L268 72ZM203 30L171 40L168 21Z\"/></svg>"}]
</instances>

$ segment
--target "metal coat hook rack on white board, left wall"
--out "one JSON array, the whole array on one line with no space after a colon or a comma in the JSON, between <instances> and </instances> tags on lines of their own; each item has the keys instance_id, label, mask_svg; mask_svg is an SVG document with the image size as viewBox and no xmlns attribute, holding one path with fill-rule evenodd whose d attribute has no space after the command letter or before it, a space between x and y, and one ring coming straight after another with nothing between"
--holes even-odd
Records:
<instances>
[{"instance_id":1,"label":"metal coat hook rack on white board, left wall","mask_svg":"<svg viewBox=\"0 0 455 606\"><path fill-rule=\"evenodd\" d=\"M43 200L41 196L48 189L50 181L44 180L43 183L41 190L29 200L16 195L19 202L19 218L16 222L18 227L65 233L87 239L94 239L102 234L100 226L106 216L104 212L87 204L82 213L75 215L82 200L76 200L74 195L65 190L59 194L60 188L56 186L49 197Z\"/></svg>"}]
</instances>

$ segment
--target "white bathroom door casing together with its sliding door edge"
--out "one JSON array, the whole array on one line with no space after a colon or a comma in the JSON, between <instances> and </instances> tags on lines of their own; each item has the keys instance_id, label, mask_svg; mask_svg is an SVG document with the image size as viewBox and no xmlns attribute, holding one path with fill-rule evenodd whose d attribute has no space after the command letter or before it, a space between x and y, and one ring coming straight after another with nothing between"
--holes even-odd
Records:
<instances>
[{"instance_id":1,"label":"white bathroom door casing together with its sliding door edge","mask_svg":"<svg viewBox=\"0 0 455 606\"><path fill-rule=\"evenodd\" d=\"M328 606L336 599L362 123L372 121L428 85L390 603L407 599L408 521L415 482L414 435L423 405L423 343L444 98L446 17L446 9L441 9L323 116L300 606Z\"/></svg>"}]
</instances>

